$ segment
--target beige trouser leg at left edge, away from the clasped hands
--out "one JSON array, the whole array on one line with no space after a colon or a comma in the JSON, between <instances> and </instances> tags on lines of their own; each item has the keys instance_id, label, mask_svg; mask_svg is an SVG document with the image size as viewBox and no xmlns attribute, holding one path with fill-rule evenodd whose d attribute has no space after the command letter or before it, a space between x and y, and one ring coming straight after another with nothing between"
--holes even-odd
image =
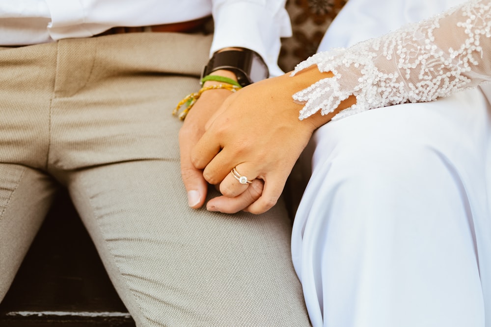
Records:
<instances>
[{"instance_id":1,"label":"beige trouser leg at left edge, away from the clasped hands","mask_svg":"<svg viewBox=\"0 0 491 327\"><path fill-rule=\"evenodd\" d=\"M0 301L56 191L42 171L56 58L48 48L0 48Z\"/></svg>"}]
</instances>

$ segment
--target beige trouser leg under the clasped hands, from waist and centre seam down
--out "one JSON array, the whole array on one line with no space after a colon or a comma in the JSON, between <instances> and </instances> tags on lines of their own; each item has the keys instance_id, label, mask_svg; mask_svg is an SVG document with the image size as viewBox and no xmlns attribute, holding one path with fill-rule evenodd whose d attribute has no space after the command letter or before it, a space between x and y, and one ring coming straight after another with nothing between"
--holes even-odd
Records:
<instances>
[{"instance_id":1,"label":"beige trouser leg under the clasped hands, from waist and centre seam down","mask_svg":"<svg viewBox=\"0 0 491 327\"><path fill-rule=\"evenodd\" d=\"M210 38L58 43L49 170L65 183L137 326L309 326L280 202L264 215L187 206L175 104Z\"/></svg>"}]
</instances>

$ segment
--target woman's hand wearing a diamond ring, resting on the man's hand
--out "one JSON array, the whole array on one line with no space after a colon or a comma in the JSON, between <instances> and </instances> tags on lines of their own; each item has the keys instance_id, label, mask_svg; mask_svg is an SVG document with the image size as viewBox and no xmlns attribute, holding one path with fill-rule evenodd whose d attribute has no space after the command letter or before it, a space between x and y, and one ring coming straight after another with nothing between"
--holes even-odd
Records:
<instances>
[{"instance_id":1,"label":"woman's hand wearing a diamond ring, resting on the man's hand","mask_svg":"<svg viewBox=\"0 0 491 327\"><path fill-rule=\"evenodd\" d=\"M246 208L262 213L273 207L312 132L336 113L300 121L302 105L293 102L292 94L331 76L316 67L308 68L295 77L285 74L252 84L225 100L191 153L194 166L204 169L203 177L211 184L220 183L220 192L231 198L210 200L209 210L235 212ZM342 103L340 108L351 104ZM234 167L248 180L264 181L262 195L250 206L239 208L234 203L252 186L234 177Z\"/></svg>"}]
</instances>

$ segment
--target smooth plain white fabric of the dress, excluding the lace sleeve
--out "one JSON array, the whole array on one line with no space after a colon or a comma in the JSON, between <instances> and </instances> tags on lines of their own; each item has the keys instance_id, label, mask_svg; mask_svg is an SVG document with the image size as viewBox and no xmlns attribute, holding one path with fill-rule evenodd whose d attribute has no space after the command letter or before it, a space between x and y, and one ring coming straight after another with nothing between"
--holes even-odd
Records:
<instances>
[{"instance_id":1,"label":"smooth plain white fabric of the dress, excluding the lace sleeve","mask_svg":"<svg viewBox=\"0 0 491 327\"><path fill-rule=\"evenodd\" d=\"M459 2L350 0L319 50ZM373 109L315 132L292 236L314 327L491 326L490 94Z\"/></svg>"}]
</instances>

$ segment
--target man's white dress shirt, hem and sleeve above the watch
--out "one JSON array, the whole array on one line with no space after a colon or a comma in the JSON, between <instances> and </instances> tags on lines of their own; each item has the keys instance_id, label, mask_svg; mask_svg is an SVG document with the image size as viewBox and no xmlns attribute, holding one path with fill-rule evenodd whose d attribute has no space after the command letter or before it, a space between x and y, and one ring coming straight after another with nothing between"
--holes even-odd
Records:
<instances>
[{"instance_id":1,"label":"man's white dress shirt, hem and sleeve above the watch","mask_svg":"<svg viewBox=\"0 0 491 327\"><path fill-rule=\"evenodd\" d=\"M0 45L28 45L90 37L117 26L190 21L213 14L210 54L225 47L258 52L270 73L280 37L291 36L284 0L0 0Z\"/></svg>"}]
</instances>

